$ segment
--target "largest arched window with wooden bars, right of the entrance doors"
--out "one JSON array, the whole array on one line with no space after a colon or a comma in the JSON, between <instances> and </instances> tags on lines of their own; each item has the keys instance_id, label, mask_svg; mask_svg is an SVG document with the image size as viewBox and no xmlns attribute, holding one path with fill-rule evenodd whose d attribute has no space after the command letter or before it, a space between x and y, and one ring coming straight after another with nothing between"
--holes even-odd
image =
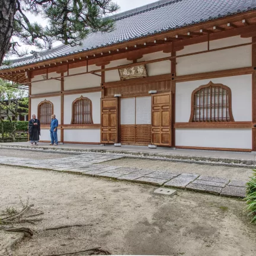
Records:
<instances>
[{"instance_id":1,"label":"largest arched window with wooden bars, right of the entrance doors","mask_svg":"<svg viewBox=\"0 0 256 256\"><path fill-rule=\"evenodd\" d=\"M223 84L201 85L192 92L190 122L234 121L231 89Z\"/></svg>"}]
</instances>

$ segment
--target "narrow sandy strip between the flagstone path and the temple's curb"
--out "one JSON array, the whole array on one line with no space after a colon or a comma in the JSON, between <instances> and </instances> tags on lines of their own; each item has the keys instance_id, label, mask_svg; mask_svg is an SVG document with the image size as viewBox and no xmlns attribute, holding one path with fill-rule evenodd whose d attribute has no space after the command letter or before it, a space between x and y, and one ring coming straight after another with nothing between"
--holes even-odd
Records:
<instances>
[{"instance_id":1,"label":"narrow sandy strip between the flagstone path and the temple's curb","mask_svg":"<svg viewBox=\"0 0 256 256\"><path fill-rule=\"evenodd\" d=\"M242 181L248 181L249 177L252 175L252 170L249 168L188 164L185 162L159 161L151 159L122 158L108 161L108 164L121 167L153 169L155 171L168 170L172 172L193 173Z\"/></svg>"}]
</instances>

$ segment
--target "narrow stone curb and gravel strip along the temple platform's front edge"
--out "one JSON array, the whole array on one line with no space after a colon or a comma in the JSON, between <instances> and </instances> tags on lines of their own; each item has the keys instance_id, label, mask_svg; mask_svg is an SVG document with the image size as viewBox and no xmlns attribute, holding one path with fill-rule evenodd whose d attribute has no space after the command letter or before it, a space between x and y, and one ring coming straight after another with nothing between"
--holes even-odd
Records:
<instances>
[{"instance_id":1,"label":"narrow stone curb and gravel strip along the temple platform's front edge","mask_svg":"<svg viewBox=\"0 0 256 256\"><path fill-rule=\"evenodd\" d=\"M37 148L31 148L30 146L18 146L8 145L2 146L2 149L19 149L27 151L49 152L49 153L105 153L110 155L119 155L126 158L143 158L143 159L155 159L161 161L174 161L174 162L187 162L202 165L221 165L228 167L242 167L242 168L256 168L256 161L248 159L236 159L236 158L219 158L210 156L194 156L194 155L169 155L161 153L148 153L148 152L136 152L136 151L122 151L113 149L66 149L66 148L50 148L45 146L37 146Z\"/></svg>"}]
</instances>

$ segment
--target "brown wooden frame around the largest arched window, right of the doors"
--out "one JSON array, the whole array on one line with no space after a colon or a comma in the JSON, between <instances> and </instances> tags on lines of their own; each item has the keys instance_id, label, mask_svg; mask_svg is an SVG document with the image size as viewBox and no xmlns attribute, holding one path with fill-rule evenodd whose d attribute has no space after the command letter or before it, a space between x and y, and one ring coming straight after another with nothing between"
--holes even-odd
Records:
<instances>
[{"instance_id":1,"label":"brown wooden frame around the largest arched window, right of the doors","mask_svg":"<svg viewBox=\"0 0 256 256\"><path fill-rule=\"evenodd\" d=\"M200 91L201 89L204 88L208 88L208 87L218 87L218 88L222 88L226 90L226 94L228 95L228 113L229 113L229 119L230 120L199 120L199 121L194 121L194 106L195 106L195 95L198 91ZM211 92L212 93L212 92ZM219 109L219 108L218 108ZM207 110L206 110L207 111ZM226 85L223 84L214 84L212 81L209 82L209 84L207 85L201 85L200 87L194 89L194 91L191 94L191 113L190 113L190 123L222 123L222 122L230 122L230 121L235 121L233 119L233 114L232 114L232 92L231 92L231 88L227 87Z\"/></svg>"}]
</instances>

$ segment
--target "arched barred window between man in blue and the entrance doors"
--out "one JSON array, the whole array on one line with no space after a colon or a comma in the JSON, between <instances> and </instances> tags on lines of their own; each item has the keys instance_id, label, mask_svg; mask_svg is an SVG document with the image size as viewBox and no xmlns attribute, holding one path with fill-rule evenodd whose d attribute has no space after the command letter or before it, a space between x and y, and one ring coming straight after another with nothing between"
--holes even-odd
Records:
<instances>
[{"instance_id":1,"label":"arched barred window between man in blue and the entrance doors","mask_svg":"<svg viewBox=\"0 0 256 256\"><path fill-rule=\"evenodd\" d=\"M71 124L93 124L91 100L81 96L73 101Z\"/></svg>"}]
</instances>

